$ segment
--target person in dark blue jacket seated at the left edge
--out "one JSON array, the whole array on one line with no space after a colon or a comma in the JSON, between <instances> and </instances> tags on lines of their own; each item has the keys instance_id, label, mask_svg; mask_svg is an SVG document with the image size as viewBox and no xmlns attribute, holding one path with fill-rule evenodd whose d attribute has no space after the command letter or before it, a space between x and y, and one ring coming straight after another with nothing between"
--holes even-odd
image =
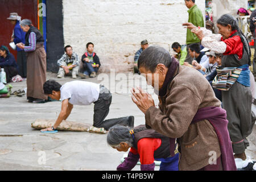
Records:
<instances>
[{"instance_id":1,"label":"person in dark blue jacket seated at the left edge","mask_svg":"<svg viewBox=\"0 0 256 182\"><path fill-rule=\"evenodd\" d=\"M0 68L5 69L7 83L11 82L11 78L17 76L19 72L14 55L6 46L0 47Z\"/></svg>"}]
</instances>

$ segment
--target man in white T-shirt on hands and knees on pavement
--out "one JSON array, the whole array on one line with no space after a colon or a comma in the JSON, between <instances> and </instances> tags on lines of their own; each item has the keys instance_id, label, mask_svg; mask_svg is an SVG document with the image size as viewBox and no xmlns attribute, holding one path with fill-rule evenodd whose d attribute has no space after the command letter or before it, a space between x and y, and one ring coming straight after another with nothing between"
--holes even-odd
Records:
<instances>
[{"instance_id":1,"label":"man in white T-shirt on hands and knees on pavement","mask_svg":"<svg viewBox=\"0 0 256 182\"><path fill-rule=\"evenodd\" d=\"M109 130L114 125L134 126L134 117L123 117L104 120L109 113L112 94L104 86L87 81L71 81L61 86L54 80L44 83L44 93L53 100L62 101L61 111L55 124L42 131L57 129L63 120L66 120L73 109L73 105L90 105L94 103L93 126L104 127Z\"/></svg>"}]
</instances>

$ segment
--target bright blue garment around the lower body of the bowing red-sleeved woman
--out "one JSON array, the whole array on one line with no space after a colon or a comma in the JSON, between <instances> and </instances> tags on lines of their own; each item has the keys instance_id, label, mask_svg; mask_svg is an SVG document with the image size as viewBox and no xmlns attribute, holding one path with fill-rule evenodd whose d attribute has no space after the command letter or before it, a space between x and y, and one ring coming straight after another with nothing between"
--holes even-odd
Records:
<instances>
[{"instance_id":1,"label":"bright blue garment around the lower body of the bowing red-sleeved woman","mask_svg":"<svg viewBox=\"0 0 256 182\"><path fill-rule=\"evenodd\" d=\"M170 158L155 160L161 161L159 171L179 171L179 153Z\"/></svg>"}]
</instances>

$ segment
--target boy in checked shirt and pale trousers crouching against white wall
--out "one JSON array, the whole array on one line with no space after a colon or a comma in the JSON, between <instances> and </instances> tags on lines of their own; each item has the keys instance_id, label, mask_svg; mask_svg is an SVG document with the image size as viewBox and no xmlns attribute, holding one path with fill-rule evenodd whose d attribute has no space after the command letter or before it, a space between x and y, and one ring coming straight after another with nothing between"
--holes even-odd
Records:
<instances>
[{"instance_id":1,"label":"boy in checked shirt and pale trousers crouching against white wall","mask_svg":"<svg viewBox=\"0 0 256 182\"><path fill-rule=\"evenodd\" d=\"M57 77L63 78L68 73L72 73L72 78L77 78L79 72L79 58L77 53L73 52L71 46L66 46L64 48L64 55L57 61L60 69Z\"/></svg>"}]
</instances>

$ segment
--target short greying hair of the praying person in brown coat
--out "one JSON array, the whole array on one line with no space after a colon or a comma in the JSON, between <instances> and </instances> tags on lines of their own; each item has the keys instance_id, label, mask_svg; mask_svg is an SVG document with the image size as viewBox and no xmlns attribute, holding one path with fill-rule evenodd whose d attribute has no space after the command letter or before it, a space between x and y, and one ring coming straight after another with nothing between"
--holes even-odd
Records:
<instances>
[{"instance_id":1,"label":"short greying hair of the praying person in brown coat","mask_svg":"<svg viewBox=\"0 0 256 182\"><path fill-rule=\"evenodd\" d=\"M171 63L172 57L166 49L159 46L151 46L142 51L141 56L139 56L138 68L144 67L154 73L158 64L164 64L169 68Z\"/></svg>"}]
</instances>

